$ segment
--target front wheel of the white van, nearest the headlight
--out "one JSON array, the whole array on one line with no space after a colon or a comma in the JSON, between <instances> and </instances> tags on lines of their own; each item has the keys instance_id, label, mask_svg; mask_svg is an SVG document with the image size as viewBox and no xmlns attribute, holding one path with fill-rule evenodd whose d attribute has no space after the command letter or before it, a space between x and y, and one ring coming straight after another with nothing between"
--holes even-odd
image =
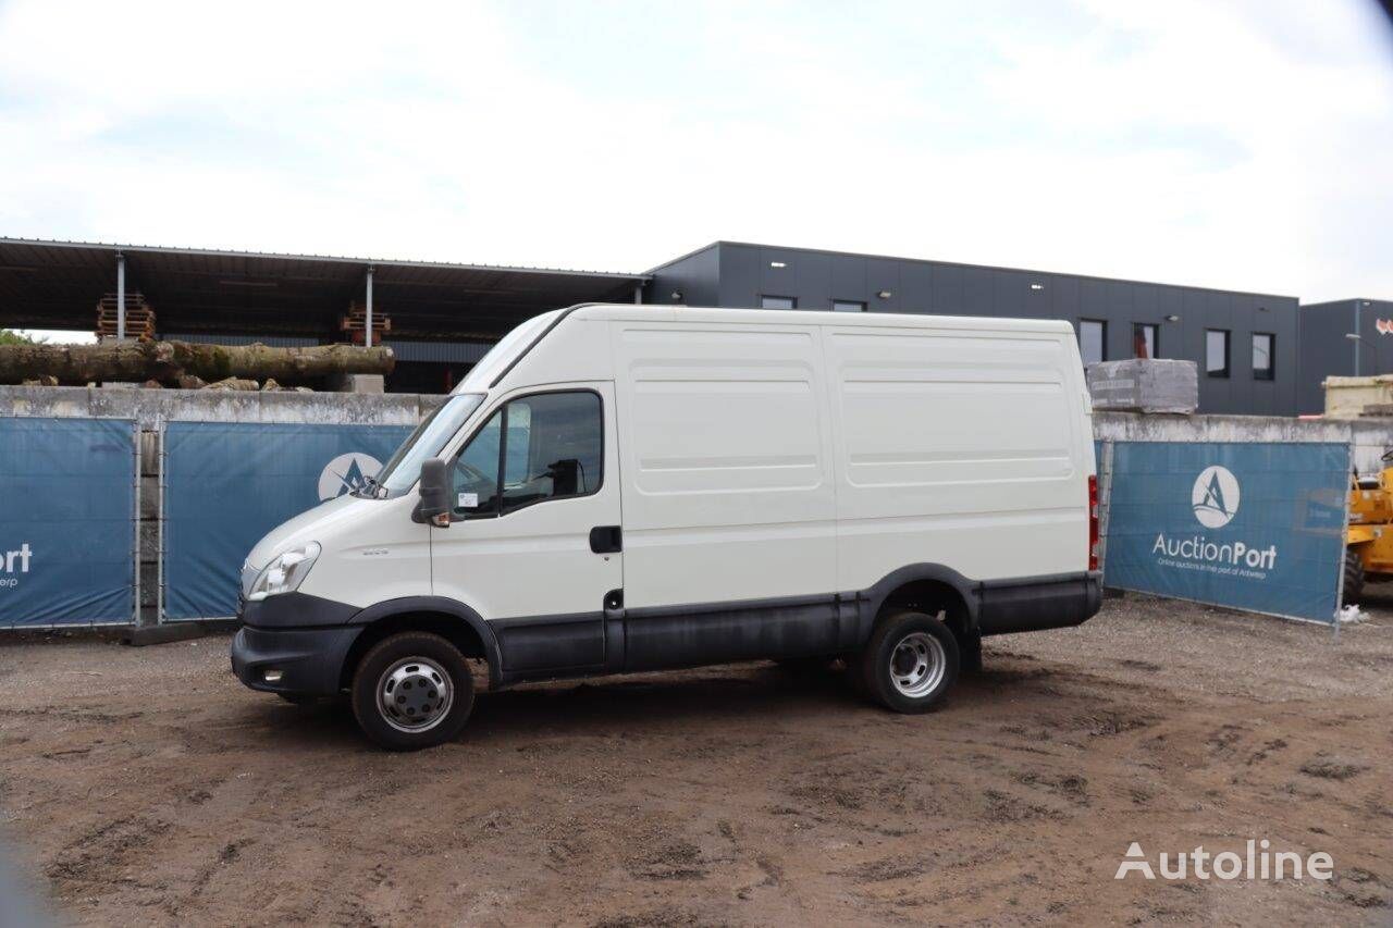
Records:
<instances>
[{"instance_id":1,"label":"front wheel of the white van, nearest the headlight","mask_svg":"<svg viewBox=\"0 0 1393 928\"><path fill-rule=\"evenodd\" d=\"M393 702L394 718L378 699L378 687L389 676L397 677L391 683L401 704ZM464 729L474 709L474 674L460 649L440 635L403 631L379 641L358 662L351 701L358 727L373 743L389 751L418 751L444 744ZM426 715L433 720L412 730Z\"/></svg>"}]
</instances>

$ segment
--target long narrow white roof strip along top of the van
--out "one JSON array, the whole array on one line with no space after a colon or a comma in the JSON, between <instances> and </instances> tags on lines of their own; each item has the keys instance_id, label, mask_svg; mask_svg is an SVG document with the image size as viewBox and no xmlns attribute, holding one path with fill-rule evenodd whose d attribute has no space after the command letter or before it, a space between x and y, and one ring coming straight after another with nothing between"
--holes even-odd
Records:
<instances>
[{"instance_id":1,"label":"long narrow white roof strip along top of the van","mask_svg":"<svg viewBox=\"0 0 1393 928\"><path fill-rule=\"evenodd\" d=\"M741 322L758 325L862 326L869 329L976 329L988 332L1070 333L1064 319L1006 319L1000 316L931 316L910 312L830 312L815 309L723 309L716 307L659 307L652 304L591 302L566 311L575 319Z\"/></svg>"}]
</instances>

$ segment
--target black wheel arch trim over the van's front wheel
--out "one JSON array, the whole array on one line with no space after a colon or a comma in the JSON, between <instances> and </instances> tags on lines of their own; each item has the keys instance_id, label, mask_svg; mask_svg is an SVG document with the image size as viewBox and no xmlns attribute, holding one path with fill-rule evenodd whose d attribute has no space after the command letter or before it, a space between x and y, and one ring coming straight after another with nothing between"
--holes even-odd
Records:
<instances>
[{"instance_id":1,"label":"black wheel arch trim over the van's front wheel","mask_svg":"<svg viewBox=\"0 0 1393 928\"><path fill-rule=\"evenodd\" d=\"M348 648L343 666L338 669L340 688L352 680L354 669L362 655L398 631L430 631L446 638L467 658L482 658L489 665L489 688L499 688L503 660L493 628L478 612L457 599L447 596L403 596L387 599L352 617L362 631Z\"/></svg>"}]
</instances>

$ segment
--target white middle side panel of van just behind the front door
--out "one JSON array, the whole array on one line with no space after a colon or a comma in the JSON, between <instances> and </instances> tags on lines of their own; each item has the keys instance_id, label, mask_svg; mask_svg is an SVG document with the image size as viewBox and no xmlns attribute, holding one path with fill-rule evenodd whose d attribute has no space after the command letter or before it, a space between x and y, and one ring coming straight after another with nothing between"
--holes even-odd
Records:
<instances>
[{"instance_id":1,"label":"white middle side panel of van just behind the front door","mask_svg":"<svg viewBox=\"0 0 1393 928\"><path fill-rule=\"evenodd\" d=\"M625 608L834 592L818 327L612 325Z\"/></svg>"}]
</instances>

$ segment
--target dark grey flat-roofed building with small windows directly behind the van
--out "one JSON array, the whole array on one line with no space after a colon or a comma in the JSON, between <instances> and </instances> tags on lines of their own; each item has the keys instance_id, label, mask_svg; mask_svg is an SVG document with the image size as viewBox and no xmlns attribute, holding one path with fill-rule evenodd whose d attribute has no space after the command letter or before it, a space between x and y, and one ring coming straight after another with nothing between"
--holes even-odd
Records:
<instances>
[{"instance_id":1,"label":"dark grey flat-roofed building with small windows directly behind the van","mask_svg":"<svg viewBox=\"0 0 1393 928\"><path fill-rule=\"evenodd\" d=\"M731 241L648 274L645 302L1068 319L1085 364L1195 361L1201 412L1297 412L1295 297Z\"/></svg>"}]
</instances>

